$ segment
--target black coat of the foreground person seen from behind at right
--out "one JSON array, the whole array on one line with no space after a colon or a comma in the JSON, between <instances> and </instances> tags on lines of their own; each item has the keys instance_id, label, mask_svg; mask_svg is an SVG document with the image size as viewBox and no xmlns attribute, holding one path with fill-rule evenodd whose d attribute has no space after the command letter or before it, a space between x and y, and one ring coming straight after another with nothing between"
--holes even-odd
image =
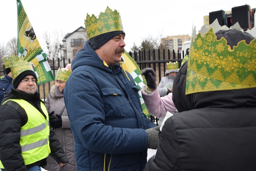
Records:
<instances>
[{"instance_id":1,"label":"black coat of the foreground person seen from behind at right","mask_svg":"<svg viewBox=\"0 0 256 171\"><path fill-rule=\"evenodd\" d=\"M145 171L256 170L256 88L185 95L187 64L174 79L180 113L162 127Z\"/></svg>"}]
</instances>

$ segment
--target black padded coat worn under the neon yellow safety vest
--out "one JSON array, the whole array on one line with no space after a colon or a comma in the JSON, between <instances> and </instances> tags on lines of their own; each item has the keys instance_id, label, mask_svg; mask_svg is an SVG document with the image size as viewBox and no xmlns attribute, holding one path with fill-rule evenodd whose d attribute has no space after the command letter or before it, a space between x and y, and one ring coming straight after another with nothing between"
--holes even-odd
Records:
<instances>
[{"instance_id":1,"label":"black padded coat worn under the neon yellow safety vest","mask_svg":"<svg viewBox=\"0 0 256 171\"><path fill-rule=\"evenodd\" d=\"M40 107L40 95L28 94L24 91L12 89L11 92L4 96L2 103L9 99L24 99L37 108L46 118ZM21 155L20 148L20 129L28 121L25 110L14 101L8 101L0 106L0 160L5 170L8 171L26 171L28 168L41 165L45 167L46 159L28 166L25 165ZM58 162L66 163L68 159L63 152L62 146L57 140L54 132L50 129L50 148L51 156Z\"/></svg>"}]
</instances>

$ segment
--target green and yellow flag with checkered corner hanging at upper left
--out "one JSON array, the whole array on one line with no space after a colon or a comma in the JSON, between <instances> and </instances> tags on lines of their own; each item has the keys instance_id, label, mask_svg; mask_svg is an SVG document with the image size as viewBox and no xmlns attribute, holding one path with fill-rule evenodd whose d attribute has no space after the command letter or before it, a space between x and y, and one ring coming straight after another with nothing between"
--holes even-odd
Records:
<instances>
[{"instance_id":1,"label":"green and yellow flag with checkered corner hanging at upper left","mask_svg":"<svg viewBox=\"0 0 256 171\"><path fill-rule=\"evenodd\" d=\"M32 63L37 75L38 85L53 81L54 75L46 59L33 27L20 0L17 0L18 11L18 56L24 56L24 60Z\"/></svg>"}]
</instances>

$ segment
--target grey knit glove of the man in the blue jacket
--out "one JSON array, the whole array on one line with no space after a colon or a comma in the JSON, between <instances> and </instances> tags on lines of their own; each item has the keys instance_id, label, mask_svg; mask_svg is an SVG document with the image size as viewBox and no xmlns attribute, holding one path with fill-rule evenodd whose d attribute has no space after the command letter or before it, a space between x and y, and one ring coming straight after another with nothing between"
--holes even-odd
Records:
<instances>
[{"instance_id":1,"label":"grey knit glove of the man in the blue jacket","mask_svg":"<svg viewBox=\"0 0 256 171\"><path fill-rule=\"evenodd\" d=\"M156 149L158 142L158 131L160 126L146 129L147 132L147 148Z\"/></svg>"}]
</instances>

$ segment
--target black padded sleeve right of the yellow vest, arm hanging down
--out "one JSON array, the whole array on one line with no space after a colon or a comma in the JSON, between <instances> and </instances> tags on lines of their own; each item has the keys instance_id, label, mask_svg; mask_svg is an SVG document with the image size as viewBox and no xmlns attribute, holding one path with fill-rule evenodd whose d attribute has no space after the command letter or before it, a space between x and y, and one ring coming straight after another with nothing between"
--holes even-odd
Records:
<instances>
[{"instance_id":1,"label":"black padded sleeve right of the yellow vest, arm hanging down","mask_svg":"<svg viewBox=\"0 0 256 171\"><path fill-rule=\"evenodd\" d=\"M58 141L57 137L54 134L54 131L50 128L50 149L51 157L56 160L58 163L68 163L68 158L63 151L62 145Z\"/></svg>"}]
</instances>

